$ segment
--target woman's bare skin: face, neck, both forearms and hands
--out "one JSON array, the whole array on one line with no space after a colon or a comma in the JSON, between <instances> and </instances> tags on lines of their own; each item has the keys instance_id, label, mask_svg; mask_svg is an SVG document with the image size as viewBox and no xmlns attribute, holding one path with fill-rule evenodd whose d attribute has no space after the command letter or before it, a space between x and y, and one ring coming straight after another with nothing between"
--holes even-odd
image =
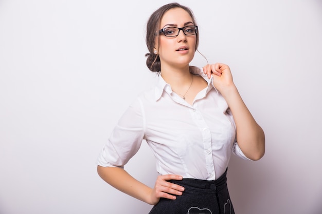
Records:
<instances>
[{"instance_id":1,"label":"woman's bare skin: face, neck, both forearms and hands","mask_svg":"<svg viewBox=\"0 0 322 214\"><path fill-rule=\"evenodd\" d=\"M191 16L182 8L173 8L164 14L159 29L188 25L194 25ZM186 102L192 105L195 95L207 87L202 77L189 72L189 63L195 52L196 35L187 36L180 31L176 37L160 34L156 41L155 50L160 57L161 75L171 85L172 90L177 94L185 94L193 78L193 84L185 96ZM178 50L182 47L185 50ZM221 92L234 116L239 147L247 158L259 160L265 152L264 132L242 101L232 81L229 66L216 63L204 66L203 71L208 78L213 76L213 85ZM99 176L113 187L151 205L157 204L160 198L175 200L176 196L184 193L184 187L168 182L182 180L181 175L158 176L154 187L151 188L137 181L121 168L98 166L97 171Z\"/></svg>"}]
</instances>

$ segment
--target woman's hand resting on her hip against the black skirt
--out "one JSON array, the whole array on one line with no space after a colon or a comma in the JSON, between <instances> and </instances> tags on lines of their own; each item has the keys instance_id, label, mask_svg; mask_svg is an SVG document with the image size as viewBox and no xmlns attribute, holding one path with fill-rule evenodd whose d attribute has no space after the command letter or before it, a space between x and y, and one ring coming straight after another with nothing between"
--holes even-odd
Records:
<instances>
[{"instance_id":1,"label":"woman's hand resting on her hip against the black skirt","mask_svg":"<svg viewBox=\"0 0 322 214\"><path fill-rule=\"evenodd\" d=\"M182 179L182 176L177 176L175 174L165 174L164 176L158 176L154 188L151 189L151 201L149 204L156 205L159 202L160 198L175 200L176 196L181 196L185 188L168 181Z\"/></svg>"}]
</instances>

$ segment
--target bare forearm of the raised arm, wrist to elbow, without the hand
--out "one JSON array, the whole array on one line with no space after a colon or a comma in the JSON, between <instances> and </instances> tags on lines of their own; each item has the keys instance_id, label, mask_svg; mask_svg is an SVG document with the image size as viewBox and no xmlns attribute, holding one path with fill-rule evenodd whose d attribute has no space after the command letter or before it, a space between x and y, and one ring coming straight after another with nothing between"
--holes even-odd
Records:
<instances>
[{"instance_id":1,"label":"bare forearm of the raised arm, wrist to elbow, without the hand","mask_svg":"<svg viewBox=\"0 0 322 214\"><path fill-rule=\"evenodd\" d=\"M240 149L247 158L259 160L265 153L265 136L251 112L244 104L235 85L222 90L236 123L236 137Z\"/></svg>"}]
</instances>

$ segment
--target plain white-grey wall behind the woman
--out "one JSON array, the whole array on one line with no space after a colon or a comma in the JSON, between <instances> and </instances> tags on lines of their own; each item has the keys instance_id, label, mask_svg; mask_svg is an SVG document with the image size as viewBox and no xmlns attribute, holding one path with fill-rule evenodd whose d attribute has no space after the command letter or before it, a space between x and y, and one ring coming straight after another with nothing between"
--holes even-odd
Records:
<instances>
[{"instance_id":1,"label":"plain white-grey wall behind the woman","mask_svg":"<svg viewBox=\"0 0 322 214\"><path fill-rule=\"evenodd\" d=\"M266 135L257 162L233 156L239 214L322 213L322 2L178 1L200 29L199 50L230 66ZM148 213L104 183L96 158L155 74L145 25L168 1L0 1L0 213ZM196 53L196 66L206 61ZM153 186L142 144L126 169Z\"/></svg>"}]
</instances>

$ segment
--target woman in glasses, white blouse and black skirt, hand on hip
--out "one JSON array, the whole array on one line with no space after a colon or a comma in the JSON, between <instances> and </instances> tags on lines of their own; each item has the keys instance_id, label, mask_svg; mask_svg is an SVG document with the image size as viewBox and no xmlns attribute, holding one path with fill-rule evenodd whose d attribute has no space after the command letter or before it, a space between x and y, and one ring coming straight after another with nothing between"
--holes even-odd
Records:
<instances>
[{"instance_id":1,"label":"woman in glasses, white blouse and black skirt, hand on hip","mask_svg":"<svg viewBox=\"0 0 322 214\"><path fill-rule=\"evenodd\" d=\"M264 132L238 93L230 69L189 66L198 26L189 8L172 3L149 18L147 66L156 87L138 96L119 120L98 158L99 176L155 205L150 213L234 213L226 184L231 151L244 159L264 155ZM123 166L145 139L157 162L150 188Z\"/></svg>"}]
</instances>

